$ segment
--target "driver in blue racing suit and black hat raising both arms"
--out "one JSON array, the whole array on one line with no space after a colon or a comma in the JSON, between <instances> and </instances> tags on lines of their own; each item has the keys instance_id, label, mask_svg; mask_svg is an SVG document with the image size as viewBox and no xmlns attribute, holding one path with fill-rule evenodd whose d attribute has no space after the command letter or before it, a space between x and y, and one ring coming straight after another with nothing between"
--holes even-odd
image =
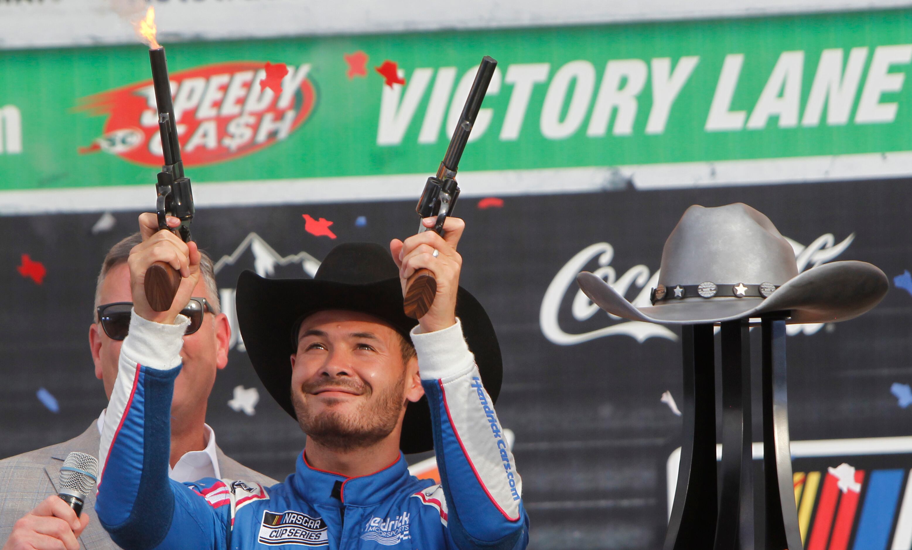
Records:
<instances>
[{"instance_id":1,"label":"driver in blue racing suit and black hat raising both arms","mask_svg":"<svg viewBox=\"0 0 912 550\"><path fill-rule=\"evenodd\" d=\"M96 511L112 539L127 549L525 548L522 482L493 410L500 348L482 306L459 286L463 228L450 218L443 237L418 233L393 240L389 252L340 244L314 279L241 275L244 345L307 435L295 472L264 487L168 478L171 393L188 322L179 313L200 254L142 214L143 243L129 261L130 333L99 450ZM143 286L157 261L181 273L165 312L151 309ZM437 290L416 322L402 311L402 293L419 269ZM431 448L441 484L410 476L403 458Z\"/></svg>"}]
</instances>

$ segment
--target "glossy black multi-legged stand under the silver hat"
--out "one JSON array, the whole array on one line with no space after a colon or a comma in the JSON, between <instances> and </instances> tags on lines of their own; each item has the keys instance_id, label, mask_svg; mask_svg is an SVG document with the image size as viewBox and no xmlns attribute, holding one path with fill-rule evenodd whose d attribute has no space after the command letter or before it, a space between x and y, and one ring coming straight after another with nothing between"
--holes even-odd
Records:
<instances>
[{"instance_id":1,"label":"glossy black multi-legged stand under the silver hat","mask_svg":"<svg viewBox=\"0 0 912 550\"><path fill-rule=\"evenodd\" d=\"M683 327L684 444L664 550L803 550L785 391L785 319L762 317L762 522L755 521L748 319L721 325L722 460L716 461L713 326ZM717 485L721 483L721 486Z\"/></svg>"}]
</instances>

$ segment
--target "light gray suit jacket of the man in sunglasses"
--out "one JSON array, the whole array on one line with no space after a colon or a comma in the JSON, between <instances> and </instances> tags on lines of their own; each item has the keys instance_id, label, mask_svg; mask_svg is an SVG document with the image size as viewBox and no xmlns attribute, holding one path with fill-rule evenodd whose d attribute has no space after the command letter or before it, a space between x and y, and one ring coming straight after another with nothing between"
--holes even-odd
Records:
<instances>
[{"instance_id":1,"label":"light gray suit jacket of the man in sunglasses","mask_svg":"<svg viewBox=\"0 0 912 550\"><path fill-rule=\"evenodd\" d=\"M20 517L31 512L48 495L57 494L60 466L66 460L67 454L79 451L97 456L100 439L98 425L93 421L88 430L69 441L0 461L0 546L5 544L13 531L13 524L16 524ZM217 447L216 456L224 479L250 481L266 487L278 483L274 479L266 477L260 472L254 472L240 462L228 458ZM88 495L83 507L83 514L88 514L90 518L86 530L79 537L83 548L86 550L119 548L111 541L108 532L98 523L98 516L95 515L94 492Z\"/></svg>"}]
</instances>

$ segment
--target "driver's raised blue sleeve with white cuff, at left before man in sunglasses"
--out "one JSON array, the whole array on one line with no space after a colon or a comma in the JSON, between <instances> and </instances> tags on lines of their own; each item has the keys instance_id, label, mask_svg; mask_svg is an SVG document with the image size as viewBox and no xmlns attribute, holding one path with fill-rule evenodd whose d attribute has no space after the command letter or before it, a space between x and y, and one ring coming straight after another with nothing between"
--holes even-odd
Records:
<instances>
[{"instance_id":1,"label":"driver's raised blue sleeve with white cuff, at left before man in sunglasses","mask_svg":"<svg viewBox=\"0 0 912 550\"><path fill-rule=\"evenodd\" d=\"M124 548L224 548L230 536L226 525L233 505L212 502L221 499L214 494L230 493L225 483L184 485L168 477L171 394L190 322L178 319L161 325L134 313L120 348L98 451L102 470L95 510L111 539Z\"/></svg>"}]
</instances>

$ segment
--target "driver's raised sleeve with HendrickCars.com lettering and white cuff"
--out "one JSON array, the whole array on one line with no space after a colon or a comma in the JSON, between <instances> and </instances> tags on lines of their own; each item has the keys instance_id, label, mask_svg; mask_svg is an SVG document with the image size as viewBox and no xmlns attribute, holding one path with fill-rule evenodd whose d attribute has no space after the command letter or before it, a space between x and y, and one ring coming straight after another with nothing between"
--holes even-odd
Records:
<instances>
[{"instance_id":1,"label":"driver's raised sleeve with HendrickCars.com lettering and white cuff","mask_svg":"<svg viewBox=\"0 0 912 550\"><path fill-rule=\"evenodd\" d=\"M411 337L430 405L450 537L460 550L521 550L529 539L523 482L461 321L419 330Z\"/></svg>"}]
</instances>

